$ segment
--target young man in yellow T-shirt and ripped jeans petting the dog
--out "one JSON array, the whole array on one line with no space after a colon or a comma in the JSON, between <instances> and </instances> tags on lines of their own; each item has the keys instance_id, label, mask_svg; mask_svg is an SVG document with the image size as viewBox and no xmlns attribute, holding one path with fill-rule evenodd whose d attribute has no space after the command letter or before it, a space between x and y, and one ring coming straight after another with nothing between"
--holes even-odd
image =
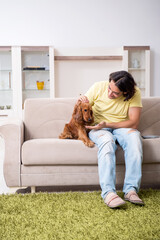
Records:
<instances>
[{"instance_id":1,"label":"young man in yellow T-shirt and ripped jeans petting the dog","mask_svg":"<svg viewBox=\"0 0 160 240\"><path fill-rule=\"evenodd\" d=\"M118 143L125 154L124 199L143 205L137 192L141 182L142 142L137 130L142 108L140 90L126 71L111 73L109 82L95 83L81 101L92 105L95 126L87 126L90 139L98 146L98 172L102 198L110 208L126 202L116 194Z\"/></svg>"}]
</instances>

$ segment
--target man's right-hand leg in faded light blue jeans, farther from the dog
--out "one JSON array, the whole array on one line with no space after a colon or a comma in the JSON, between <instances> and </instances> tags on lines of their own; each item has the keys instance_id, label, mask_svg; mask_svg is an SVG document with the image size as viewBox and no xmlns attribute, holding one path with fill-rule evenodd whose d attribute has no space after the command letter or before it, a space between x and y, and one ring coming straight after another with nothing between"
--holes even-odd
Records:
<instances>
[{"instance_id":1,"label":"man's right-hand leg in faded light blue jeans, farther from the dog","mask_svg":"<svg viewBox=\"0 0 160 240\"><path fill-rule=\"evenodd\" d=\"M140 132L131 128L119 128L115 129L113 134L116 136L116 139L123 148L125 154L126 172L123 192L125 195L129 192L137 193L141 183L143 158ZM138 198L137 201L139 201Z\"/></svg>"}]
</instances>

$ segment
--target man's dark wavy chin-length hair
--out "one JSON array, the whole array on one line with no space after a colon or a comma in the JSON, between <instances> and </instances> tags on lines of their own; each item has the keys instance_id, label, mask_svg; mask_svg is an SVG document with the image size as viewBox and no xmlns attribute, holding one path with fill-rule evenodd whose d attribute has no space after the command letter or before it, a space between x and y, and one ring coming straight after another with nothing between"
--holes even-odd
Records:
<instances>
[{"instance_id":1,"label":"man's dark wavy chin-length hair","mask_svg":"<svg viewBox=\"0 0 160 240\"><path fill-rule=\"evenodd\" d=\"M109 82L115 83L115 85L119 88L121 92L123 92L123 96L125 97L124 101L129 100L135 94L135 86L137 85L134 81L134 78L129 72L126 71L117 71L113 72L109 75Z\"/></svg>"}]
</instances>

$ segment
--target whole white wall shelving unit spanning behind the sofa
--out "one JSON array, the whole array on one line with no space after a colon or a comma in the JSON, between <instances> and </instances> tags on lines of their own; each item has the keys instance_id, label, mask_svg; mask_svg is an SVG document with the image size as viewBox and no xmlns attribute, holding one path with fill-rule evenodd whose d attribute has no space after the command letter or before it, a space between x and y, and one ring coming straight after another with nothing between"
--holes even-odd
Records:
<instances>
[{"instance_id":1,"label":"whole white wall shelving unit spanning behind the sofa","mask_svg":"<svg viewBox=\"0 0 160 240\"><path fill-rule=\"evenodd\" d=\"M22 117L27 98L84 94L94 82L108 80L118 70L130 72L142 96L150 96L149 46L65 48L55 54L53 46L0 47L0 119ZM42 90L37 81L44 82Z\"/></svg>"}]
</instances>

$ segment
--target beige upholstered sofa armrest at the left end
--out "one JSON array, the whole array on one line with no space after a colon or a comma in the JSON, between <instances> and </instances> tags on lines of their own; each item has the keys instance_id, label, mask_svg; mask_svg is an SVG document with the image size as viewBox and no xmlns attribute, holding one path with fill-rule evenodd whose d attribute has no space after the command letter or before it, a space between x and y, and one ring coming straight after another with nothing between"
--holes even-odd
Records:
<instances>
[{"instance_id":1,"label":"beige upholstered sofa armrest at the left end","mask_svg":"<svg viewBox=\"0 0 160 240\"><path fill-rule=\"evenodd\" d=\"M24 142L23 121L19 119L0 121L0 136L5 143L3 172L6 184L8 187L19 187L21 146Z\"/></svg>"}]
</instances>

